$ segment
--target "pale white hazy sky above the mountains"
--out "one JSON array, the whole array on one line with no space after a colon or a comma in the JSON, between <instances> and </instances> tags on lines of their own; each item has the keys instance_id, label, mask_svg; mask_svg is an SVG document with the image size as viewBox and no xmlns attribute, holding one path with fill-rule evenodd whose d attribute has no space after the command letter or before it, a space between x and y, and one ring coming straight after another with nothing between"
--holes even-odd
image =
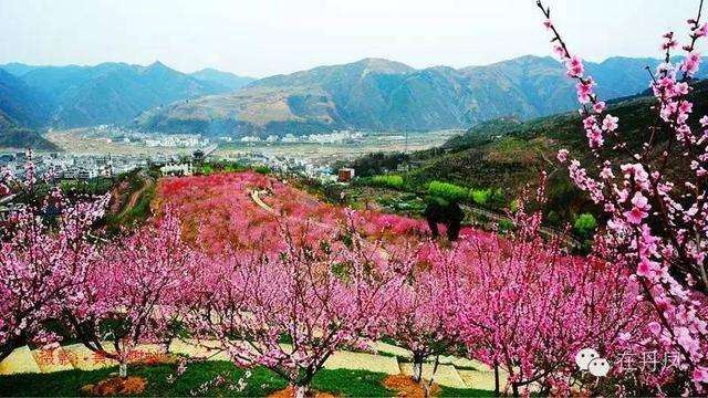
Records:
<instances>
[{"instance_id":1,"label":"pale white hazy sky above the mountains","mask_svg":"<svg viewBox=\"0 0 708 398\"><path fill-rule=\"evenodd\" d=\"M658 56L658 36L686 32L698 7L546 2L571 49L595 61ZM261 77L367 56L460 67L550 54L534 0L0 0L0 63L159 60Z\"/></svg>"}]
</instances>

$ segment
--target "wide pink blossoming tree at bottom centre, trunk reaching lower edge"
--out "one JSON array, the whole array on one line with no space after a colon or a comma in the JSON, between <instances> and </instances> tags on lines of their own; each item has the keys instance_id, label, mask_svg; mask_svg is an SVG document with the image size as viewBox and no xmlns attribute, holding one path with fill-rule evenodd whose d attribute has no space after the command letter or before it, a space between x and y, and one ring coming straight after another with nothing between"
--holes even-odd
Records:
<instances>
[{"instance_id":1,"label":"wide pink blossoming tree at bottom centre, trunk reaching lower edge","mask_svg":"<svg viewBox=\"0 0 708 398\"><path fill-rule=\"evenodd\" d=\"M262 365L303 397L325 360L366 347L410 269L410 255L363 240L353 229L315 227L312 242L282 224L269 251L227 252L198 276L186 316L190 329L216 338L238 366Z\"/></svg>"}]
</instances>

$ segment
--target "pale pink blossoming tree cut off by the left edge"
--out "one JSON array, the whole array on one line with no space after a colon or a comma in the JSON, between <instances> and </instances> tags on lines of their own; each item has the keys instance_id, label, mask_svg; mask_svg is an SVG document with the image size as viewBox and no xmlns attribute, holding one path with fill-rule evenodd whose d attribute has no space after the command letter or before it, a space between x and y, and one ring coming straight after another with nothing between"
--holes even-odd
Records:
<instances>
[{"instance_id":1,"label":"pale pink blossoming tree cut off by the left edge","mask_svg":"<svg viewBox=\"0 0 708 398\"><path fill-rule=\"evenodd\" d=\"M49 193L35 205L29 199L39 187ZM49 343L44 323L81 305L81 287L97 261L88 232L107 203L70 201L60 188L38 180L31 158L23 180L3 175L0 197L7 195L28 202L10 212L0 233L0 360L28 341Z\"/></svg>"}]
</instances>

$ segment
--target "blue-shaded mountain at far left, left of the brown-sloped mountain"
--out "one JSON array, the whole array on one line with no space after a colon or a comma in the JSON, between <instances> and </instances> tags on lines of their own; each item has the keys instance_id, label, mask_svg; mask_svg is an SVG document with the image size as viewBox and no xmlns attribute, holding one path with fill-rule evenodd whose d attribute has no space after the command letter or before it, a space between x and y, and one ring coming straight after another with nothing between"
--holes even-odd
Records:
<instances>
[{"instance_id":1,"label":"blue-shaded mountain at far left, left of the brown-sloped mountain","mask_svg":"<svg viewBox=\"0 0 708 398\"><path fill-rule=\"evenodd\" d=\"M124 124L142 112L185 98L228 92L155 62L148 66L103 63L95 66L0 65L43 97L46 124L80 127Z\"/></svg>"}]
</instances>

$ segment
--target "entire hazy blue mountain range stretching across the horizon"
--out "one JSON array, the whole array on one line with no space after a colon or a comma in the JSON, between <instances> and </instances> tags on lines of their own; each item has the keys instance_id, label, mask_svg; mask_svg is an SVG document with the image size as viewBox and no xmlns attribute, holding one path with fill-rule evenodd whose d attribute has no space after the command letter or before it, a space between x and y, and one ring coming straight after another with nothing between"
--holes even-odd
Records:
<instances>
[{"instance_id":1,"label":"entire hazy blue mountain range stretching across the horizon","mask_svg":"<svg viewBox=\"0 0 708 398\"><path fill-rule=\"evenodd\" d=\"M646 90L653 59L586 63L603 98ZM705 74L700 75L700 77ZM551 57L415 70L365 59L261 80L212 69L0 65L0 133L15 128L132 125L218 136L295 135L354 128L468 128L500 116L528 119L576 107L574 84ZM3 127L4 126L4 127Z\"/></svg>"}]
</instances>

